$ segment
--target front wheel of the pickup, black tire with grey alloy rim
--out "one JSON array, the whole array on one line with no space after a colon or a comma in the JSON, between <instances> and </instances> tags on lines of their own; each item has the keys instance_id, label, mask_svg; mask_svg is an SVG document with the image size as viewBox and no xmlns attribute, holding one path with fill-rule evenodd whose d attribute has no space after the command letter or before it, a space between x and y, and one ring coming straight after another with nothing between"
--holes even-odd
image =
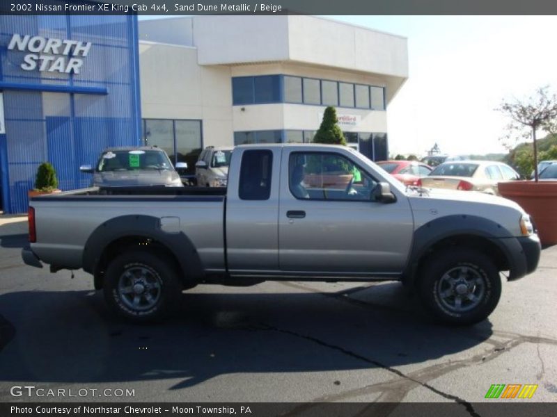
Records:
<instances>
[{"instance_id":1,"label":"front wheel of the pickup, black tire with grey alloy rim","mask_svg":"<svg viewBox=\"0 0 557 417\"><path fill-rule=\"evenodd\" d=\"M425 308L435 318L451 325L473 325L497 306L501 277L489 257L455 247L432 254L426 262L417 284Z\"/></svg>"}]
</instances>

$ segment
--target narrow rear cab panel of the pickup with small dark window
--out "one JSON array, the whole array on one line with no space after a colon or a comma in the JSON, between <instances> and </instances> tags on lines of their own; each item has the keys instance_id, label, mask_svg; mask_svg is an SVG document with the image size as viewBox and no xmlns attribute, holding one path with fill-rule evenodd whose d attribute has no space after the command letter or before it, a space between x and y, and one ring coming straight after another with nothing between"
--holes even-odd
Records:
<instances>
[{"instance_id":1,"label":"narrow rear cab panel of the pickup with small dark window","mask_svg":"<svg viewBox=\"0 0 557 417\"><path fill-rule=\"evenodd\" d=\"M237 148L233 152L226 202L226 247L231 275L278 271L281 153L281 147ZM238 165L239 170L235 168Z\"/></svg>"}]
</instances>

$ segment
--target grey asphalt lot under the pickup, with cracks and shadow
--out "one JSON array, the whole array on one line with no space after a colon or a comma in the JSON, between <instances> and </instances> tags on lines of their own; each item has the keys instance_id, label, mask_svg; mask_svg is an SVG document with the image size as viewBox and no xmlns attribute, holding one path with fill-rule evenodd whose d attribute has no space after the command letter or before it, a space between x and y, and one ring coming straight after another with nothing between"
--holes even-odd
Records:
<instances>
[{"instance_id":1,"label":"grey asphalt lot under the pickup, with cracks and shadow","mask_svg":"<svg viewBox=\"0 0 557 417\"><path fill-rule=\"evenodd\" d=\"M492 384L557 401L557 246L473 327L435 324L391 282L198 286L173 318L132 326L84 272L24 265L19 220L0 224L0 402L75 400L10 393L33 385L98 390L87 401L472 403Z\"/></svg>"}]
</instances>

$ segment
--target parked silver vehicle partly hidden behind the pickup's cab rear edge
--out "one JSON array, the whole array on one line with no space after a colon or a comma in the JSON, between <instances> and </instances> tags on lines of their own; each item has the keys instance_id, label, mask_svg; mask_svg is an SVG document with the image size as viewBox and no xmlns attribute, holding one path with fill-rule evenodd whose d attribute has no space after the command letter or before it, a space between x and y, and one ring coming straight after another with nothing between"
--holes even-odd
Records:
<instances>
[{"instance_id":1,"label":"parked silver vehicle partly hidden behind the pickup's cab rear edge","mask_svg":"<svg viewBox=\"0 0 557 417\"><path fill-rule=\"evenodd\" d=\"M226 187L233 147L206 147L196 163L198 186Z\"/></svg>"}]
</instances>

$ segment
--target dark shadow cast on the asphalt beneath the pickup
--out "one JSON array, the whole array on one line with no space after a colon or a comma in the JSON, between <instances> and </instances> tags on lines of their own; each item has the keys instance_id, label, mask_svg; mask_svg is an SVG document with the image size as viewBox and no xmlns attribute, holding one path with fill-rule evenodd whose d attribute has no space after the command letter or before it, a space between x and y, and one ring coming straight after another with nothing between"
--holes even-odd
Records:
<instances>
[{"instance_id":1,"label":"dark shadow cast on the asphalt beneath the pickup","mask_svg":"<svg viewBox=\"0 0 557 417\"><path fill-rule=\"evenodd\" d=\"M114 319L93 291L6 293L0 313L11 324L0 320L0 381L173 379L171 389L184 389L235 373L421 363L467 350L492 334L489 321L436 325L402 295L400 284L381 287L387 302L379 304L343 292L295 289L185 293L175 316L149 326ZM390 302L391 296L402 302Z\"/></svg>"}]
</instances>

